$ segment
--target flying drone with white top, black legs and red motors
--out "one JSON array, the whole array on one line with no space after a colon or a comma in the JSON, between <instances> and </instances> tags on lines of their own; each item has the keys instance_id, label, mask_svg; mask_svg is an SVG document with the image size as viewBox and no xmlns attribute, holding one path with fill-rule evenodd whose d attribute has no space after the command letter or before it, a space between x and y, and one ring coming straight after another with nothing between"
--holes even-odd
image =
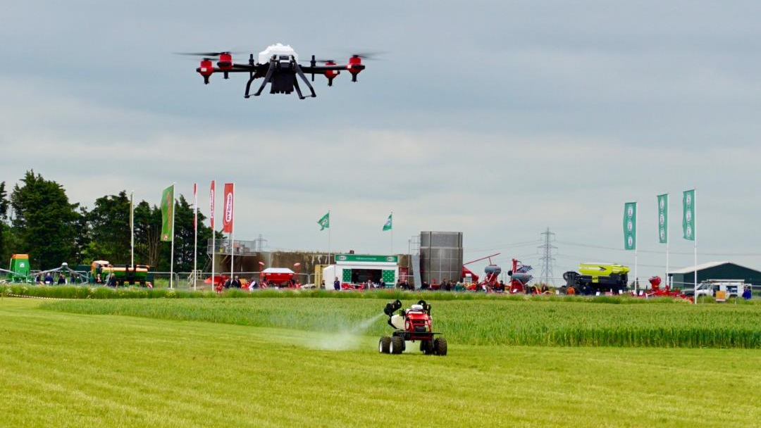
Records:
<instances>
[{"instance_id":1,"label":"flying drone with white top, black legs and red motors","mask_svg":"<svg viewBox=\"0 0 761 428\"><path fill-rule=\"evenodd\" d=\"M247 64L233 62L232 52L193 52L182 53L181 55L197 55L203 57L201 64L196 68L196 72L203 77L203 83L209 84L209 78L214 73L222 73L225 79L229 78L230 73L248 73L246 83L245 98L259 97L264 88L269 84L270 94L291 94L296 90L296 94L301 100L304 95L301 94L301 87L298 85L298 79L301 78L310 90L311 97L317 97L314 94L314 87L307 80L306 75L323 75L328 79L328 86L333 86L333 79L341 74L341 71L349 71L352 75L352 81L357 81L357 75L365 69L362 59L368 59L369 54L355 54L349 58L345 65L338 64L332 59L312 59L309 65L301 65L298 62L298 54L290 45L267 46L254 59L253 53L248 57ZM215 67L211 57L218 57L219 61ZM320 65L318 65L320 63ZM259 90L251 94L251 84L257 78L263 78Z\"/></svg>"}]
</instances>

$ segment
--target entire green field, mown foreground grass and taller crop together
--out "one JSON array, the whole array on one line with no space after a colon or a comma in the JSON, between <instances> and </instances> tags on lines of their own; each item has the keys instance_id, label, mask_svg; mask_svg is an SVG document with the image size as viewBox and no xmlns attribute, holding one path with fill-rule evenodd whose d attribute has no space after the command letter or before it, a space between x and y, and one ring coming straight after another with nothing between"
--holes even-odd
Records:
<instances>
[{"instance_id":1,"label":"entire green field, mown foreground grass and taller crop together","mask_svg":"<svg viewBox=\"0 0 761 428\"><path fill-rule=\"evenodd\" d=\"M437 357L377 352L390 329L384 302L5 297L0 426L726 428L761 418L759 306L437 301L435 330L450 344Z\"/></svg>"}]
</instances>

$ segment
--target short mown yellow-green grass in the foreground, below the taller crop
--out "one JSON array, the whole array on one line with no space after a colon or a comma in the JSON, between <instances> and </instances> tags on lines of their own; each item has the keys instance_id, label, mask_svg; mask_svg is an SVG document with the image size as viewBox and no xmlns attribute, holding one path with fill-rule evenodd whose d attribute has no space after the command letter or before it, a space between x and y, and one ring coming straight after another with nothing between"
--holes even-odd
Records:
<instances>
[{"instance_id":1,"label":"short mown yellow-green grass in the foreground, below the taller crop","mask_svg":"<svg viewBox=\"0 0 761 428\"><path fill-rule=\"evenodd\" d=\"M759 350L451 341L447 357L390 356L372 336L325 350L336 339L325 331L40 304L0 300L0 426L744 428L761 418Z\"/></svg>"}]
</instances>

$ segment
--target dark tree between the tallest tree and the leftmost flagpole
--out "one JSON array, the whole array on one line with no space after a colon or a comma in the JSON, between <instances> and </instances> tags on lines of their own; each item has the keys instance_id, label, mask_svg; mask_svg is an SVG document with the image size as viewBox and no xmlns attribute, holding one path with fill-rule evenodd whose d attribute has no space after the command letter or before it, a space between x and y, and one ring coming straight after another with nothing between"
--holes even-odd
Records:
<instances>
[{"instance_id":1,"label":"dark tree between the tallest tree and the leftmost flagpole","mask_svg":"<svg viewBox=\"0 0 761 428\"><path fill-rule=\"evenodd\" d=\"M97 198L87 214L90 242L85 254L108 260L113 264L129 263L129 197L126 191L119 195Z\"/></svg>"}]
</instances>

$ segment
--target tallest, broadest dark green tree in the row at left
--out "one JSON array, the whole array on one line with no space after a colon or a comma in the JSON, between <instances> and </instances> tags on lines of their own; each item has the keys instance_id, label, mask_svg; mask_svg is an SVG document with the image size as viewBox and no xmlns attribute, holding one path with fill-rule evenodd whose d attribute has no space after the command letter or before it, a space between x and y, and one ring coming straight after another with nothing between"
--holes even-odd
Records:
<instances>
[{"instance_id":1,"label":"tallest, broadest dark green tree in the row at left","mask_svg":"<svg viewBox=\"0 0 761 428\"><path fill-rule=\"evenodd\" d=\"M73 256L78 204L70 204L57 182L30 170L14 185L12 222L21 252L28 252L33 266L55 268Z\"/></svg>"}]
</instances>

